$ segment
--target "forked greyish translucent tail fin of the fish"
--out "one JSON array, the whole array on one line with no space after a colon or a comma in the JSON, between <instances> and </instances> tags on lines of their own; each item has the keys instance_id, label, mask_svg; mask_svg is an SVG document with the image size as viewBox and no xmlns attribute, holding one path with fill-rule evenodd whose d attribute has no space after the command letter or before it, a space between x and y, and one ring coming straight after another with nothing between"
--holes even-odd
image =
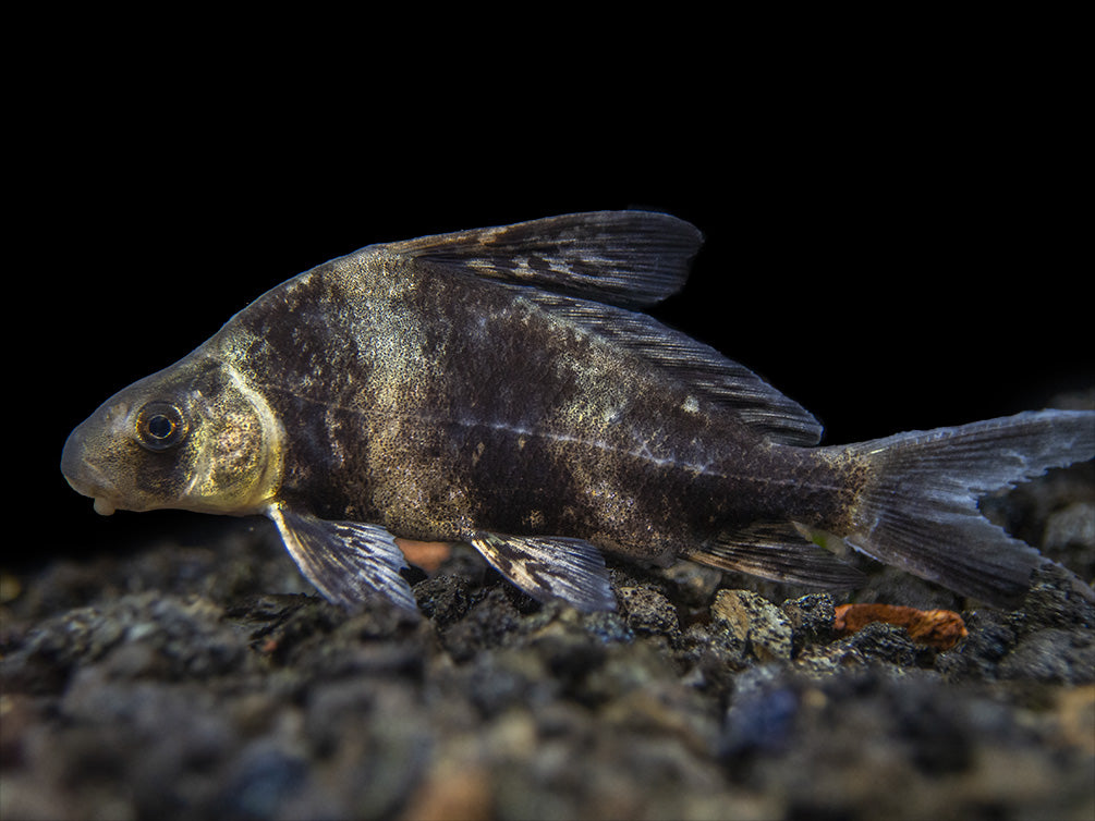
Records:
<instances>
[{"instance_id":1,"label":"forked greyish translucent tail fin of the fish","mask_svg":"<svg viewBox=\"0 0 1095 821\"><path fill-rule=\"evenodd\" d=\"M992 604L1017 604L1034 547L981 516L978 499L1095 456L1095 412L1041 410L956 428L898 433L845 449L871 479L845 541L886 564ZM1092 591L1079 579L1085 595Z\"/></svg>"}]
</instances>

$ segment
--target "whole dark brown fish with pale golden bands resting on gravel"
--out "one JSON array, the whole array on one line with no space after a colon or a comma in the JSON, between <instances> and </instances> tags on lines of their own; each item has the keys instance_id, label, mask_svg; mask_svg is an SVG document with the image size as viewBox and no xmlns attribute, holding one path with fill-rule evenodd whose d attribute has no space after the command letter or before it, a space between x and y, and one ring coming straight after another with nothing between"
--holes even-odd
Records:
<instances>
[{"instance_id":1,"label":"whole dark brown fish with pale golden bands resting on gravel","mask_svg":"<svg viewBox=\"0 0 1095 821\"><path fill-rule=\"evenodd\" d=\"M470 544L532 598L585 612L615 608L607 554L862 585L825 534L1019 602L1051 563L978 500L1092 459L1095 412L822 446L805 408L645 312L702 243L624 210L368 245L111 396L61 472L102 514L265 516L347 608L416 609L396 539Z\"/></svg>"}]
</instances>

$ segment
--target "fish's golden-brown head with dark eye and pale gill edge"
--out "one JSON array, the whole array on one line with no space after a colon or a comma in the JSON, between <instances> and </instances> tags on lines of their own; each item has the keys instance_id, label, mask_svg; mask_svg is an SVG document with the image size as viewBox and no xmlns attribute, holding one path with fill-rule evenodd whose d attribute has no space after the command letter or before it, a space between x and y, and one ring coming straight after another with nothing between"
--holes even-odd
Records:
<instances>
[{"instance_id":1,"label":"fish's golden-brown head with dark eye and pale gill edge","mask_svg":"<svg viewBox=\"0 0 1095 821\"><path fill-rule=\"evenodd\" d=\"M61 473L104 516L160 508L243 516L277 492L280 442L269 405L232 366L192 355L77 426Z\"/></svg>"}]
</instances>

